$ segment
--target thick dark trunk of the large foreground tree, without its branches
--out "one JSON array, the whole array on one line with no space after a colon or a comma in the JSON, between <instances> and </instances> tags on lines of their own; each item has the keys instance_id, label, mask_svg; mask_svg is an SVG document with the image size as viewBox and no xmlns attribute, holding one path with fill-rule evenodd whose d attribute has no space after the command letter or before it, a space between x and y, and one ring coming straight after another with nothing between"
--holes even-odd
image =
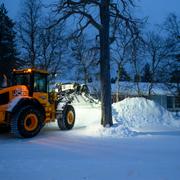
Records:
<instances>
[{"instance_id":1,"label":"thick dark trunk of the large foreground tree, without its branches","mask_svg":"<svg viewBox=\"0 0 180 180\"><path fill-rule=\"evenodd\" d=\"M101 0L100 17L100 80L101 80L101 124L112 126L110 50L109 50L109 0Z\"/></svg>"}]
</instances>

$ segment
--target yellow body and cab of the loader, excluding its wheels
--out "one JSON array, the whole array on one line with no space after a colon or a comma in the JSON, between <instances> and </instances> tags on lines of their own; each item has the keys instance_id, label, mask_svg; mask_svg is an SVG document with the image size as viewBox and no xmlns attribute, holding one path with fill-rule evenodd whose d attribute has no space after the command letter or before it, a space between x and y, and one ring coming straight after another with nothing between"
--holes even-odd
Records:
<instances>
[{"instance_id":1,"label":"yellow body and cab of the loader, excluding its wheels","mask_svg":"<svg viewBox=\"0 0 180 180\"><path fill-rule=\"evenodd\" d=\"M44 70L36 70L36 69L23 69L23 70L14 70L13 74L15 76L27 75L27 77L31 78L30 83L25 82L25 84L21 84L21 82L13 82L14 85L6 88L0 89L0 125L9 124L11 121L11 117L9 113L13 111L15 106L18 104L20 100L23 99L31 99L34 101L38 101L39 104L42 105L45 112L44 122L51 122L55 120L55 101L49 102L49 93L47 90L47 75L48 73ZM44 83L41 88L36 88L36 83L34 80L36 74L44 77ZM17 79L15 80L17 81ZM39 86L41 79L39 80ZM27 83L27 84L26 84ZM43 89L44 88L44 89ZM42 91L41 91L42 89ZM39 91L38 91L39 90Z\"/></svg>"}]
</instances>

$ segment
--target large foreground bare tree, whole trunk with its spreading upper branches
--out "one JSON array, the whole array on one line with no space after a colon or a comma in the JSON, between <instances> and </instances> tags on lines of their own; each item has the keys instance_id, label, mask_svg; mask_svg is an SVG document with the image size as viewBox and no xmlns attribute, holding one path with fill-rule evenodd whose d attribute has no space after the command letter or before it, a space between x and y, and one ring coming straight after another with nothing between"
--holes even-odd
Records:
<instances>
[{"instance_id":1,"label":"large foreground bare tree, whole trunk with its spreading upper branches","mask_svg":"<svg viewBox=\"0 0 180 180\"><path fill-rule=\"evenodd\" d=\"M126 22L128 27L132 27L130 9L133 6L132 0L62 0L57 4L58 24L63 20L74 16L78 18L77 30L81 34L89 25L92 25L99 35L100 43L100 82L101 82L101 124L111 126L111 82L110 82L110 40L113 41L116 28L110 29L110 17L114 23L118 19ZM110 35L110 33L112 33ZM110 38L111 37L111 38Z\"/></svg>"}]
</instances>

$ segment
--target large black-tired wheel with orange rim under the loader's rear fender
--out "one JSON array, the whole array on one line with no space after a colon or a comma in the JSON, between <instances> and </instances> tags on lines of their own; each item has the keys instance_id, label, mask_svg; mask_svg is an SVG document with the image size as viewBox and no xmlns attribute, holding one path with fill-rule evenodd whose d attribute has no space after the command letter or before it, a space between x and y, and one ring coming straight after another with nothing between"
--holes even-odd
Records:
<instances>
[{"instance_id":1,"label":"large black-tired wheel with orange rim under the loader's rear fender","mask_svg":"<svg viewBox=\"0 0 180 180\"><path fill-rule=\"evenodd\" d=\"M17 137L36 136L44 125L43 113L33 106L26 106L11 120L11 132Z\"/></svg>"}]
</instances>

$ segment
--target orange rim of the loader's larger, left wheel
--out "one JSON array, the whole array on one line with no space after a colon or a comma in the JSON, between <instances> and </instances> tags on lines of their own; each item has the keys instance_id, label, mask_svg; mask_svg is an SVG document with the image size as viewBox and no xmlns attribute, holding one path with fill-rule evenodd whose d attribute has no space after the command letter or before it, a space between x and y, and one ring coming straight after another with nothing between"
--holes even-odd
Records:
<instances>
[{"instance_id":1,"label":"orange rim of the loader's larger, left wheel","mask_svg":"<svg viewBox=\"0 0 180 180\"><path fill-rule=\"evenodd\" d=\"M28 114L24 120L24 128L27 131L34 131L38 126L38 118L35 114Z\"/></svg>"}]
</instances>

